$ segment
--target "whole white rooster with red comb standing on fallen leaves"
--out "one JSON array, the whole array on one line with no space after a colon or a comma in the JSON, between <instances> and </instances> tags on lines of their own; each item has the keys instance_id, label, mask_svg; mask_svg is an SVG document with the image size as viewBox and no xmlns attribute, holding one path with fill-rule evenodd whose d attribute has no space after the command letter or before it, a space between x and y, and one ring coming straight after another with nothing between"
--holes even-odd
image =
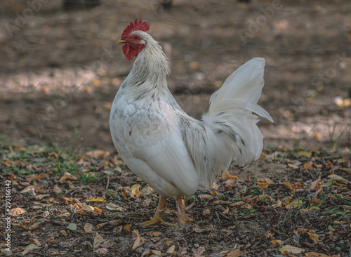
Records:
<instances>
[{"instance_id":1,"label":"whole white rooster with red comb standing on fallen leaves","mask_svg":"<svg viewBox=\"0 0 351 257\"><path fill-rule=\"evenodd\" d=\"M110 131L129 169L161 195L154 218L143 225L172 225L161 218L167 197L176 199L178 223L186 223L192 220L185 214L183 195L210 189L231 162L244 166L260 157L263 140L253 113L272 121L257 105L265 60L253 58L233 72L199 121L168 90L168 61L146 33L149 29L150 23L136 19L117 41L124 44L126 58L135 61L114 98Z\"/></svg>"}]
</instances>

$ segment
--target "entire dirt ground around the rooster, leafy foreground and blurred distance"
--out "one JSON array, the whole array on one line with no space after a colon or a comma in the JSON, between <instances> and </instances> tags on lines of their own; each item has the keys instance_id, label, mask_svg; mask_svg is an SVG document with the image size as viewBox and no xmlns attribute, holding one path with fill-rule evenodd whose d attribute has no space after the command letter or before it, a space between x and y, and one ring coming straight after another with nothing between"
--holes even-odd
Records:
<instances>
[{"instance_id":1,"label":"entire dirt ground around the rooster, leafy foreground and blurred distance","mask_svg":"<svg viewBox=\"0 0 351 257\"><path fill-rule=\"evenodd\" d=\"M349 254L350 1L173 0L164 10L157 0L102 0L81 11L38 1L40 8L24 23L16 18L30 8L27 1L0 7L0 176L14 183L13 206L27 211L13 220L14 254L38 246L34 239L40 246L27 256ZM194 222L187 225L140 225L153 215L157 195L121 163L110 137L111 103L133 65L115 42L136 17L151 23L150 34L170 60L168 86L193 117L201 117L211 93L237 67L257 56L267 62L260 105L274 124L260 121L265 156L240 171L232 167L239 178L219 178L213 192L187 197L186 205L195 201L188 212ZM15 144L4 143L10 141ZM28 150L46 144L56 150ZM80 155L60 156L62 148L72 147ZM286 147L295 152L288 154ZM89 150L110 154L89 157ZM60 168L59 161L67 165ZM114 171L107 189L105 170ZM65 171L79 180L58 183ZM345 179L340 185L331 184L333 171ZM273 183L260 187L265 178ZM143 192L138 197L132 194L137 184ZM303 204L289 209L298 199ZM274 205L278 200L282 207ZM117 207L108 209L107 203ZM88 205L98 209L81 209ZM164 216L176 219L171 199ZM86 223L92 230L84 229ZM132 251L137 239L143 244ZM287 245L305 251L279 250Z\"/></svg>"}]
</instances>

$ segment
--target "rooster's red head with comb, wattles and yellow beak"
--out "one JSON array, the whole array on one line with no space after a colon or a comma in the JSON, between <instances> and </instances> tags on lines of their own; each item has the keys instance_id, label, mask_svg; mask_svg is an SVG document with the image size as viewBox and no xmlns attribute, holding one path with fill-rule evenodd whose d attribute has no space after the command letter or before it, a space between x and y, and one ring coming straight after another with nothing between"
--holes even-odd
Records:
<instances>
[{"instance_id":1,"label":"rooster's red head with comb, wattles and yellow beak","mask_svg":"<svg viewBox=\"0 0 351 257\"><path fill-rule=\"evenodd\" d=\"M150 29L149 22L142 22L141 18L138 22L138 18L135 22L131 22L130 25L124 29L121 39L116 44L124 44L123 53L128 60L132 60L136 57L140 51L146 46L146 41L143 39L143 35L140 31L147 32Z\"/></svg>"}]
</instances>

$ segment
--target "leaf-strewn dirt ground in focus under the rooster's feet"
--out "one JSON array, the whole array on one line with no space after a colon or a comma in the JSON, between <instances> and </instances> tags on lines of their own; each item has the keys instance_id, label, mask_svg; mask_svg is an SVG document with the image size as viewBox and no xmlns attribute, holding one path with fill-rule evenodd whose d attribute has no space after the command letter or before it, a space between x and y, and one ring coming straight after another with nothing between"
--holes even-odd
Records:
<instances>
[{"instance_id":1,"label":"leaf-strewn dirt ground in focus under the rooster's feet","mask_svg":"<svg viewBox=\"0 0 351 257\"><path fill-rule=\"evenodd\" d=\"M191 223L150 227L141 223L159 197L118 155L4 143L0 152L13 214L5 256L350 254L350 150L265 150L244 169L232 166L210 192L185 196ZM176 223L172 199L163 218Z\"/></svg>"}]
</instances>

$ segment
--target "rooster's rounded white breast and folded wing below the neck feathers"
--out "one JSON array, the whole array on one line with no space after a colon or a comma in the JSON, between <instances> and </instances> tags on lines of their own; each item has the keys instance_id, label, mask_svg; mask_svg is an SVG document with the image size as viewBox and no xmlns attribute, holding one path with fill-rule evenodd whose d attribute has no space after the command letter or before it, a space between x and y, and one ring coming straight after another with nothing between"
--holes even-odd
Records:
<instances>
[{"instance_id":1,"label":"rooster's rounded white breast and folded wing below the neck feathers","mask_svg":"<svg viewBox=\"0 0 351 257\"><path fill-rule=\"evenodd\" d=\"M129 169L164 196L191 195L199 183L179 126L166 101L120 98L112 105L114 146Z\"/></svg>"}]
</instances>

